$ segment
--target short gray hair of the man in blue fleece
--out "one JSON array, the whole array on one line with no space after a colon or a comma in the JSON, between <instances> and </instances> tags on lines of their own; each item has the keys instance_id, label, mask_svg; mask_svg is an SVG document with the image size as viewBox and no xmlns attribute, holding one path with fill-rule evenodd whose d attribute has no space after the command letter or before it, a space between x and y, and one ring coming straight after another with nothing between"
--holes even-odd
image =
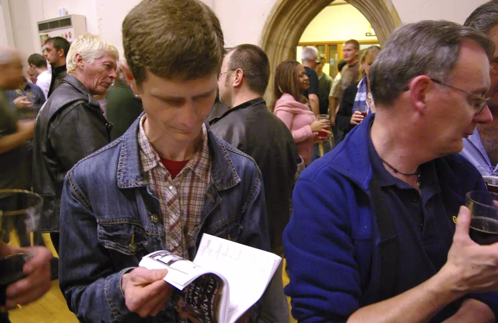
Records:
<instances>
[{"instance_id":1,"label":"short gray hair of the man in blue fleece","mask_svg":"<svg viewBox=\"0 0 498 323\"><path fill-rule=\"evenodd\" d=\"M419 75L445 81L460 58L465 39L475 41L491 59L493 40L454 22L423 20L394 30L370 69L375 104L392 105L406 91L408 82Z\"/></svg>"}]
</instances>

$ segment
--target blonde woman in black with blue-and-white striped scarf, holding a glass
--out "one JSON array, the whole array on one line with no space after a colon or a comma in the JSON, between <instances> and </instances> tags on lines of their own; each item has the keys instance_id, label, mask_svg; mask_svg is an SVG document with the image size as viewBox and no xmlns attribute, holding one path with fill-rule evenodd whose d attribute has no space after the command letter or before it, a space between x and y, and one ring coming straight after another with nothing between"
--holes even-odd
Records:
<instances>
[{"instance_id":1,"label":"blonde woman in black with blue-and-white striped scarf, holding a glass","mask_svg":"<svg viewBox=\"0 0 498 323\"><path fill-rule=\"evenodd\" d=\"M336 115L336 126L343 131L343 137L362 123L363 118L375 112L372 92L370 92L370 65L380 52L379 46L370 46L360 54L359 82L351 84L343 94L339 111ZM353 112L354 111L354 112Z\"/></svg>"}]
</instances>

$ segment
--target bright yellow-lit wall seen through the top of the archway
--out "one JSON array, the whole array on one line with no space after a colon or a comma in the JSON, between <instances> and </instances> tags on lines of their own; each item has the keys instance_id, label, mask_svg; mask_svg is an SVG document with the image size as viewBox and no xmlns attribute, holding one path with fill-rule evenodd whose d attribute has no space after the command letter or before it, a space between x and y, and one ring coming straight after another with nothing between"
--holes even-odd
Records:
<instances>
[{"instance_id":1,"label":"bright yellow-lit wall seen through the top of the archway","mask_svg":"<svg viewBox=\"0 0 498 323\"><path fill-rule=\"evenodd\" d=\"M351 4L332 5L323 9L306 27L299 42L337 40L377 40L366 36L374 32L370 22Z\"/></svg>"}]
</instances>

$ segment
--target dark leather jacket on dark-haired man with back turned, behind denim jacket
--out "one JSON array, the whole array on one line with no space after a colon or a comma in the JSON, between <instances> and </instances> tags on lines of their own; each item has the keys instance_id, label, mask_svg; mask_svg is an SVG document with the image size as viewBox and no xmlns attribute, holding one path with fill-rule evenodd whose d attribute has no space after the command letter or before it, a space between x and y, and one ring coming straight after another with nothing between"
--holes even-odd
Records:
<instances>
[{"instance_id":1,"label":"dark leather jacket on dark-haired man with back turned, behind denim jacket","mask_svg":"<svg viewBox=\"0 0 498 323\"><path fill-rule=\"evenodd\" d=\"M254 159L261 170L271 251L281 255L289 222L289 199L297 169L297 148L285 124L262 98L232 108L209 122L220 138Z\"/></svg>"}]
</instances>

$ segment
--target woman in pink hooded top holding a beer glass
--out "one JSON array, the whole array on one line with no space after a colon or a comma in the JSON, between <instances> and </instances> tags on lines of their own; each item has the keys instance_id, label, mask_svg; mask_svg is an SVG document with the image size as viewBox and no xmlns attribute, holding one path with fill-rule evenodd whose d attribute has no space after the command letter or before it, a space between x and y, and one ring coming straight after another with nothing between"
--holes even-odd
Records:
<instances>
[{"instance_id":1,"label":"woman in pink hooded top holding a beer glass","mask_svg":"<svg viewBox=\"0 0 498 323\"><path fill-rule=\"evenodd\" d=\"M297 152L307 164L311 159L313 143L319 142L318 132L326 131L330 121L317 121L307 99L301 93L309 88L306 70L299 62L289 59L277 66L272 111L289 128L297 146Z\"/></svg>"}]
</instances>

